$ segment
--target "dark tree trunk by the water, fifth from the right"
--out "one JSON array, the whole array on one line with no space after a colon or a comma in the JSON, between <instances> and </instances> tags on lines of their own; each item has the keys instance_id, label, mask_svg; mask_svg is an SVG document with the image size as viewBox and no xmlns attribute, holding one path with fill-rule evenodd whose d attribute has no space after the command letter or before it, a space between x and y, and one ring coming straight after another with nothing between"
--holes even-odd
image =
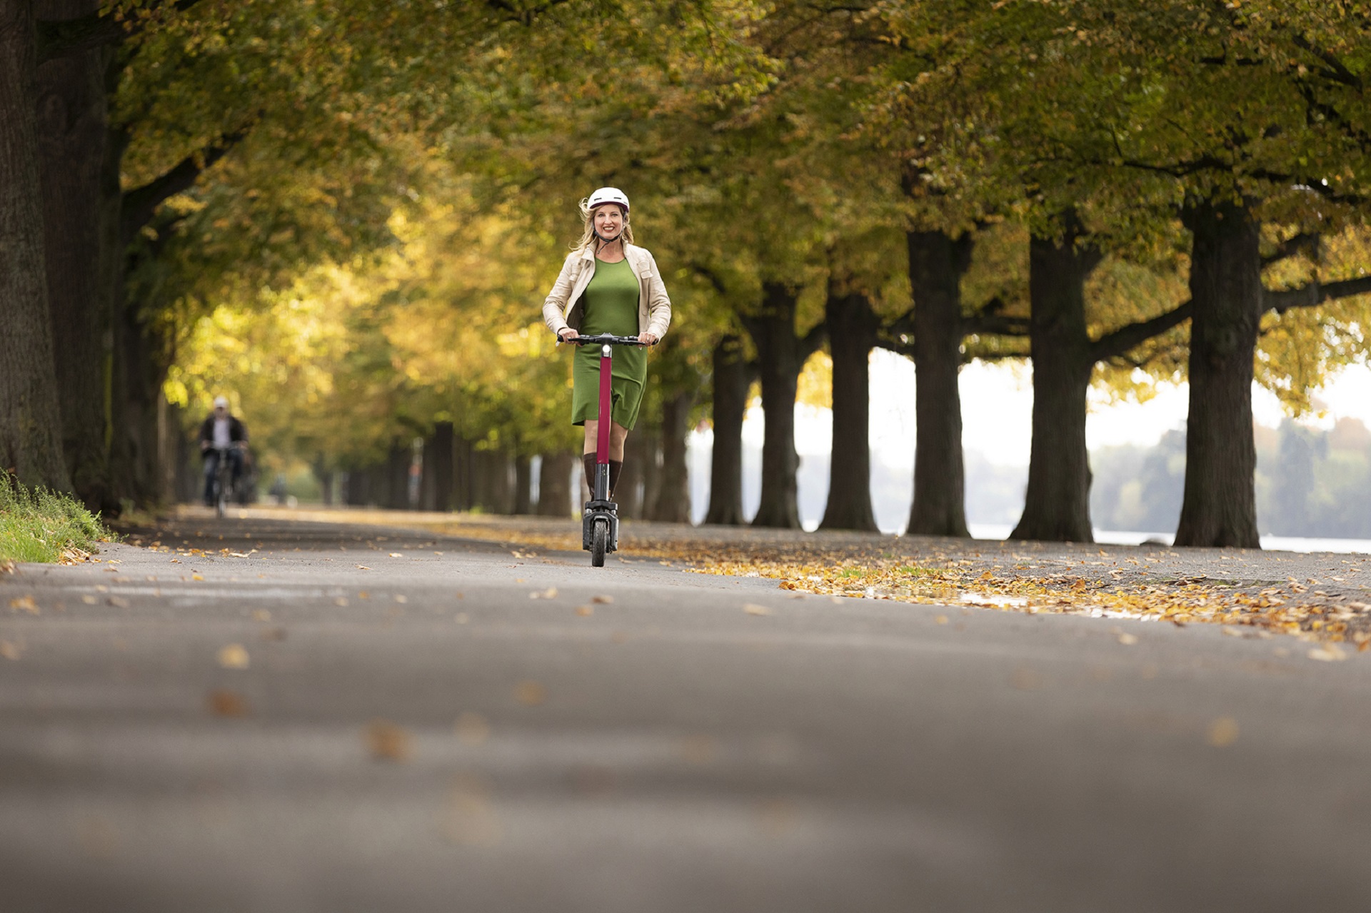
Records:
<instances>
[{"instance_id":1,"label":"dark tree trunk by the water, fifth from the right","mask_svg":"<svg viewBox=\"0 0 1371 913\"><path fill-rule=\"evenodd\" d=\"M799 529L795 498L795 387L802 367L801 345L795 337L797 293L780 284L762 287L761 313L744 317L743 325L757 345L762 381L762 413L766 432L762 439L762 494L753 517L754 526Z\"/></svg>"}]
</instances>

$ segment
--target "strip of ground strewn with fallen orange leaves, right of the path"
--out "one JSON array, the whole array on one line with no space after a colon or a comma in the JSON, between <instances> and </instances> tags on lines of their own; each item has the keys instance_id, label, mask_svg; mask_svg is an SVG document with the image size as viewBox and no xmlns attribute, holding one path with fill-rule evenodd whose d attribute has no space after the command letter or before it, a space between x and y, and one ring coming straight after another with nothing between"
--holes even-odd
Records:
<instances>
[{"instance_id":1,"label":"strip of ground strewn with fallen orange leaves, right of the path","mask_svg":"<svg viewBox=\"0 0 1371 913\"><path fill-rule=\"evenodd\" d=\"M524 547L580 547L574 535L505 524L462 522L447 532ZM1252 551L923 537L803 541L744 529L625 532L621 552L680 562L699 573L771 577L794 592L1223 624L1259 637L1289 633L1371 650L1371 573L1363 579L1361 555L1338 558L1339 573L1296 579L1275 576L1281 558ZM1252 565L1259 565L1256 577Z\"/></svg>"}]
</instances>

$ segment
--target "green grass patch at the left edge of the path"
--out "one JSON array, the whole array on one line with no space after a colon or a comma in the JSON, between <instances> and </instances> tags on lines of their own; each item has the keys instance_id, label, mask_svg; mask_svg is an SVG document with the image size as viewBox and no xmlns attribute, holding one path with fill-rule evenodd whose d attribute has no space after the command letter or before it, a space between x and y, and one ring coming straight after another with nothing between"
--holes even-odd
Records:
<instances>
[{"instance_id":1,"label":"green grass patch at the left edge of the path","mask_svg":"<svg viewBox=\"0 0 1371 913\"><path fill-rule=\"evenodd\" d=\"M93 551L107 536L78 502L45 488L26 488L0 472L0 561L62 561Z\"/></svg>"}]
</instances>

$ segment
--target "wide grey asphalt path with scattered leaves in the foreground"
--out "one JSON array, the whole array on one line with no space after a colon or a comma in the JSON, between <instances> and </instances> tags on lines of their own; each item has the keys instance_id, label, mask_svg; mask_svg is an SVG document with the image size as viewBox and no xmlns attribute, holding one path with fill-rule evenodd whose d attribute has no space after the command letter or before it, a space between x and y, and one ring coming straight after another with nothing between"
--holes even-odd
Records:
<instances>
[{"instance_id":1,"label":"wide grey asphalt path with scattered leaves in the foreground","mask_svg":"<svg viewBox=\"0 0 1371 913\"><path fill-rule=\"evenodd\" d=\"M99 558L0 577L7 912L1371 908L1367 654L383 528Z\"/></svg>"}]
</instances>

